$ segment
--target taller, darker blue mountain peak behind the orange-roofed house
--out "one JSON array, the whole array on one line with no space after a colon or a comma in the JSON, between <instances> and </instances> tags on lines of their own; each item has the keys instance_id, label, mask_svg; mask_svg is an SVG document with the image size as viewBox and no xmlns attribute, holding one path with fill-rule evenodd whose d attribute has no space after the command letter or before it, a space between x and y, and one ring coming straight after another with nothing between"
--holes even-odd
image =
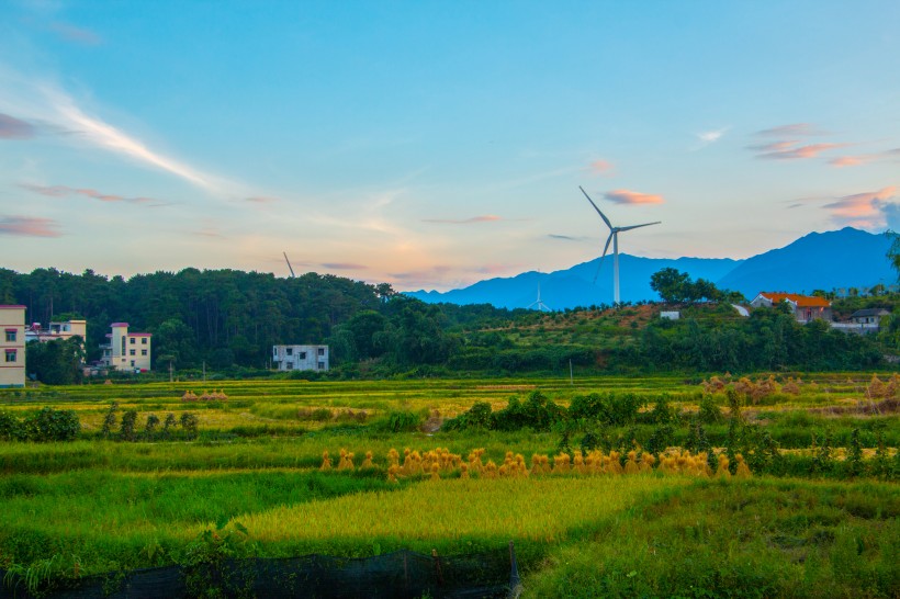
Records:
<instances>
[{"instance_id":1,"label":"taller, darker blue mountain peak behind the orange-roofed house","mask_svg":"<svg viewBox=\"0 0 900 599\"><path fill-rule=\"evenodd\" d=\"M761 291L812 293L893 284L890 239L853 227L810 233L789 246L747 258L717 285L752 300Z\"/></svg>"}]
</instances>

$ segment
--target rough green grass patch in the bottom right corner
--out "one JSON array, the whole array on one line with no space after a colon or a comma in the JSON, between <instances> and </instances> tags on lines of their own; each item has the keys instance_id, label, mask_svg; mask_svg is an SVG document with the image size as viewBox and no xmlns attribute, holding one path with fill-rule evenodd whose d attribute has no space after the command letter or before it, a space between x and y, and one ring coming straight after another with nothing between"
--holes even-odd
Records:
<instances>
[{"instance_id":1,"label":"rough green grass patch in the bottom right corner","mask_svg":"<svg viewBox=\"0 0 900 599\"><path fill-rule=\"evenodd\" d=\"M900 489L699 482L551 551L533 597L898 597Z\"/></svg>"}]
</instances>

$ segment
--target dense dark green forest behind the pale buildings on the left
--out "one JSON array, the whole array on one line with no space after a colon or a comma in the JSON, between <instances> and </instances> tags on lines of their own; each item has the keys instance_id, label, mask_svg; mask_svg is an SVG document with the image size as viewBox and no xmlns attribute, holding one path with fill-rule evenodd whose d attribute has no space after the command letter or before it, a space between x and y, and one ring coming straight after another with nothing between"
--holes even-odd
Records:
<instances>
[{"instance_id":1,"label":"dense dark green forest behind the pale buildings on the left","mask_svg":"<svg viewBox=\"0 0 900 599\"><path fill-rule=\"evenodd\" d=\"M0 269L0 303L22 304L26 323L86 318L86 358L100 358L109 326L126 321L151 332L155 368L262 369L272 346L328 343L336 363L380 360L403 366L446 362L457 346L451 328L502 321L510 312L492 306L428 306L372 285L310 272L291 279L235 270L184 269L131 279L86 270L71 274ZM518 310L525 313L526 310ZM42 373L72 362L71 348L32 350ZM53 383L72 382L60 373ZM65 380L64 380L65 378Z\"/></svg>"}]
</instances>

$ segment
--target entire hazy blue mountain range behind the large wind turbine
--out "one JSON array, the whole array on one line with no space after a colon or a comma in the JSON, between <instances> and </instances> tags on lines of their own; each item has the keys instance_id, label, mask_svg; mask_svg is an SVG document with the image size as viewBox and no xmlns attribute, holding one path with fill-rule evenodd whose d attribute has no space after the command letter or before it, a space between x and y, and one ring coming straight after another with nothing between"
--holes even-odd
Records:
<instances>
[{"instance_id":1,"label":"entire hazy blue mountain range behind the large wind turbine","mask_svg":"<svg viewBox=\"0 0 900 599\"><path fill-rule=\"evenodd\" d=\"M810 233L792 244L745 260L728 258L641 258L619 255L622 302L659 300L650 289L650 276L665 268L712 281L719 289L739 291L753 300L761 291L812 293L869 287L897 280L887 258L891 240L853 227ZM511 278L479 281L448 292L414 291L406 295L427 303L493 304L526 308L540 300L550 309L612 303L612 259L607 256L596 284L599 258L550 273L524 272Z\"/></svg>"}]
</instances>

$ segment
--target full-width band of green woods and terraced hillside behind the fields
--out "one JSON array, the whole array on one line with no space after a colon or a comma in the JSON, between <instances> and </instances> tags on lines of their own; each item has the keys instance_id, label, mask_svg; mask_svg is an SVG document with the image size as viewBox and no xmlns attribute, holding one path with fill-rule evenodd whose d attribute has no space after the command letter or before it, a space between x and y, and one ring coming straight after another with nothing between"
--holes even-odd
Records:
<instances>
[{"instance_id":1,"label":"full-width band of green woods and terraced hillside behind the fields","mask_svg":"<svg viewBox=\"0 0 900 599\"><path fill-rule=\"evenodd\" d=\"M898 298L841 302L835 313L858 307L893 310ZM727 301L683 298L675 306L683 318L675 321L660 318L663 306L652 304L552 314L427 305L389 284L316 273L278 279L185 269L125 280L90 270L78 275L3 269L0 303L23 304L29 323L86 318L88 361L99 358L109 325L127 321L132 330L154 335L155 368L167 371L170 363L178 371L203 363L218 370L263 370L279 343L329 344L329 376L344 377L562 374L570 364L597 372L855 370L887 365L885 355L900 347L900 319L891 317L878 336L858 336L831 330L823 321L800 325L780 308L740 317ZM31 355L35 368L64 355L69 363L74 360L61 349L34 349ZM50 374L40 378L65 380Z\"/></svg>"}]
</instances>

